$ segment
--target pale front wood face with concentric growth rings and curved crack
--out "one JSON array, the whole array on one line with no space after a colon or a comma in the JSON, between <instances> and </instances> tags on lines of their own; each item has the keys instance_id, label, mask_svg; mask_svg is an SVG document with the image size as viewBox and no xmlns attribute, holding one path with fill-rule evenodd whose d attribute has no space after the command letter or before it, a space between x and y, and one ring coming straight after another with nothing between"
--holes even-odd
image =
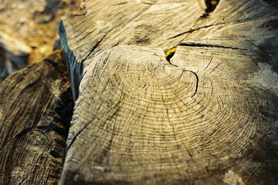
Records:
<instances>
[{"instance_id":1,"label":"pale front wood face with concentric growth rings and curved crack","mask_svg":"<svg viewBox=\"0 0 278 185\"><path fill-rule=\"evenodd\" d=\"M105 51L81 81L61 184L274 184L278 98L253 60L208 47L181 46L172 64L162 49Z\"/></svg>"}]
</instances>

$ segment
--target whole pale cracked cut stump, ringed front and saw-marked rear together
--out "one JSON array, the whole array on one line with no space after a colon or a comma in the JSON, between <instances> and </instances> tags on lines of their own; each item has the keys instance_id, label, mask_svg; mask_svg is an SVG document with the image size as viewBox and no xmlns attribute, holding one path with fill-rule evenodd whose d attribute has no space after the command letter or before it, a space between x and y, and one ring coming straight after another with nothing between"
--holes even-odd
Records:
<instances>
[{"instance_id":1,"label":"whole pale cracked cut stump, ringed front and saw-marked rear together","mask_svg":"<svg viewBox=\"0 0 278 185\"><path fill-rule=\"evenodd\" d=\"M277 22L255 0L88 1L65 17L79 98L60 184L277 184Z\"/></svg>"}]
</instances>

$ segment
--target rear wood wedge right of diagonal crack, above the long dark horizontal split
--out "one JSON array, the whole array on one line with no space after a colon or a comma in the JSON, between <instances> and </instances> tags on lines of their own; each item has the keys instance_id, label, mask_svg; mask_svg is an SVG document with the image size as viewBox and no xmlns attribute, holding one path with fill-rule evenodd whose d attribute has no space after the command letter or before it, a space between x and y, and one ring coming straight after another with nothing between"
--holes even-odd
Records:
<instances>
[{"instance_id":1,"label":"rear wood wedge right of diagonal crack, above the long dark horizontal split","mask_svg":"<svg viewBox=\"0 0 278 185\"><path fill-rule=\"evenodd\" d=\"M277 8L264 1L224 0L206 19L197 22L192 33L177 37L183 39L180 45L253 51L261 56L256 62L270 64L278 72L277 23Z\"/></svg>"}]
</instances>

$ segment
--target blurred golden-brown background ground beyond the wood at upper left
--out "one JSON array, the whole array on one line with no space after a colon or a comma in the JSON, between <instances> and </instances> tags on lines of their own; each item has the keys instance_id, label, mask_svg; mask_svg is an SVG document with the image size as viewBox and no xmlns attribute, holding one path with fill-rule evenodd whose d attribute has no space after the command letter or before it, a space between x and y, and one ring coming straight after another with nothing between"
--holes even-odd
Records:
<instances>
[{"instance_id":1,"label":"blurred golden-brown background ground beyond the wood at upper left","mask_svg":"<svg viewBox=\"0 0 278 185\"><path fill-rule=\"evenodd\" d=\"M76 6L79 0L0 0L0 82L52 53L60 17Z\"/></svg>"}]
</instances>

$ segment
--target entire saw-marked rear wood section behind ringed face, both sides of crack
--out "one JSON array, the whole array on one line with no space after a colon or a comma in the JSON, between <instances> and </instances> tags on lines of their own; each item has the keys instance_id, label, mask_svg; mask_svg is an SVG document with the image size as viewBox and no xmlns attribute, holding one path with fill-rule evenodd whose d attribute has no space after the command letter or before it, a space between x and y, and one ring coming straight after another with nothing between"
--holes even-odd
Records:
<instances>
[{"instance_id":1,"label":"entire saw-marked rear wood section behind ringed face, both sides of crack","mask_svg":"<svg viewBox=\"0 0 278 185\"><path fill-rule=\"evenodd\" d=\"M222 0L209 15L195 0L86 1L85 8L64 17L59 26L74 99L82 64L120 44L161 46L165 52L182 42L256 50L278 71L278 10L264 1Z\"/></svg>"}]
</instances>

